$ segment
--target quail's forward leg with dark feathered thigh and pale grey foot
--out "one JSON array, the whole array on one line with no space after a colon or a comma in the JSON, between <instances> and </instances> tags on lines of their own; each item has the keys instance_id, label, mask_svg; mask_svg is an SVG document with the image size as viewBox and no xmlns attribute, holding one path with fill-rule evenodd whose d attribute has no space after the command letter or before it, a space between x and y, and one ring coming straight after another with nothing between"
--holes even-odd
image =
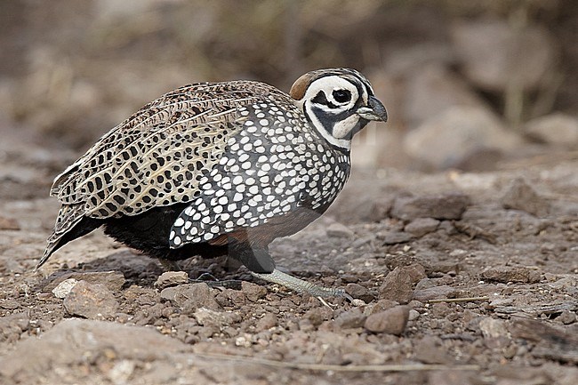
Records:
<instances>
[{"instance_id":1,"label":"quail's forward leg with dark feathered thigh and pale grey foot","mask_svg":"<svg viewBox=\"0 0 578 385\"><path fill-rule=\"evenodd\" d=\"M343 289L317 286L276 269L266 247L246 247L237 252L237 258L250 270L253 277L283 285L297 293L309 293L315 297L345 297L351 300Z\"/></svg>"}]
</instances>

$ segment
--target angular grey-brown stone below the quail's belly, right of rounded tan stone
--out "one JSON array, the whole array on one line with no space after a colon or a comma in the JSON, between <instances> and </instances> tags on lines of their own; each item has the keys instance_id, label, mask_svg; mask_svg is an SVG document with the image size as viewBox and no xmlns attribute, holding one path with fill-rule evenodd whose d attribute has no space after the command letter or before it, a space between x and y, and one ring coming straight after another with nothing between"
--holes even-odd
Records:
<instances>
[{"instance_id":1,"label":"angular grey-brown stone below the quail's belly, right of rounded tan stone","mask_svg":"<svg viewBox=\"0 0 578 385\"><path fill-rule=\"evenodd\" d=\"M166 287L161 291L161 298L171 301L185 314L193 314L198 308L220 308L213 291L205 283Z\"/></svg>"}]
</instances>

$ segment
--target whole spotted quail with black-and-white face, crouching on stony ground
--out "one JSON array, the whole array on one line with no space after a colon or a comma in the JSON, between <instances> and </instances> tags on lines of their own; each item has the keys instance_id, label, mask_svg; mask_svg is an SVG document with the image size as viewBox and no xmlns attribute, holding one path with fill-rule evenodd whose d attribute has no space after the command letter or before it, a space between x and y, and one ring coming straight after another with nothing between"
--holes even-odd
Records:
<instances>
[{"instance_id":1,"label":"whole spotted quail with black-and-white face, crouching on stony ground","mask_svg":"<svg viewBox=\"0 0 578 385\"><path fill-rule=\"evenodd\" d=\"M228 255L297 293L346 295L277 269L269 244L325 213L349 178L352 138L387 117L351 68L310 71L289 93L250 80L167 92L54 179L61 206L36 269L103 228L161 261Z\"/></svg>"}]
</instances>

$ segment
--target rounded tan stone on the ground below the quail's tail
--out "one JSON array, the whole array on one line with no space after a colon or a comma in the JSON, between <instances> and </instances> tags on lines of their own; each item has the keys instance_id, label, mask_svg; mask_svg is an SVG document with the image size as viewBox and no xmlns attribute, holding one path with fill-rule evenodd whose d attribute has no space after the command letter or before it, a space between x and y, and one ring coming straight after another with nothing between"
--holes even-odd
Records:
<instances>
[{"instance_id":1,"label":"rounded tan stone on the ground below the quail's tail","mask_svg":"<svg viewBox=\"0 0 578 385\"><path fill-rule=\"evenodd\" d=\"M71 316L106 319L115 315L118 301L107 286L78 281L64 299L64 308Z\"/></svg>"}]
</instances>

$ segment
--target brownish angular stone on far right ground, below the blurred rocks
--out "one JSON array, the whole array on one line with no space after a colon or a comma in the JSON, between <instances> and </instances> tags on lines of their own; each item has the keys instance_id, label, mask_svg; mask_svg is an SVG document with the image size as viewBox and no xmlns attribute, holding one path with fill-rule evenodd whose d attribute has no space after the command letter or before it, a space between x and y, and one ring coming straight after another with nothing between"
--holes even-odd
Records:
<instances>
[{"instance_id":1,"label":"brownish angular stone on far right ground, below the blurred rocks","mask_svg":"<svg viewBox=\"0 0 578 385\"><path fill-rule=\"evenodd\" d=\"M550 203L534 190L526 180L517 178L502 197L505 209L521 210L542 217L550 212Z\"/></svg>"}]
</instances>

